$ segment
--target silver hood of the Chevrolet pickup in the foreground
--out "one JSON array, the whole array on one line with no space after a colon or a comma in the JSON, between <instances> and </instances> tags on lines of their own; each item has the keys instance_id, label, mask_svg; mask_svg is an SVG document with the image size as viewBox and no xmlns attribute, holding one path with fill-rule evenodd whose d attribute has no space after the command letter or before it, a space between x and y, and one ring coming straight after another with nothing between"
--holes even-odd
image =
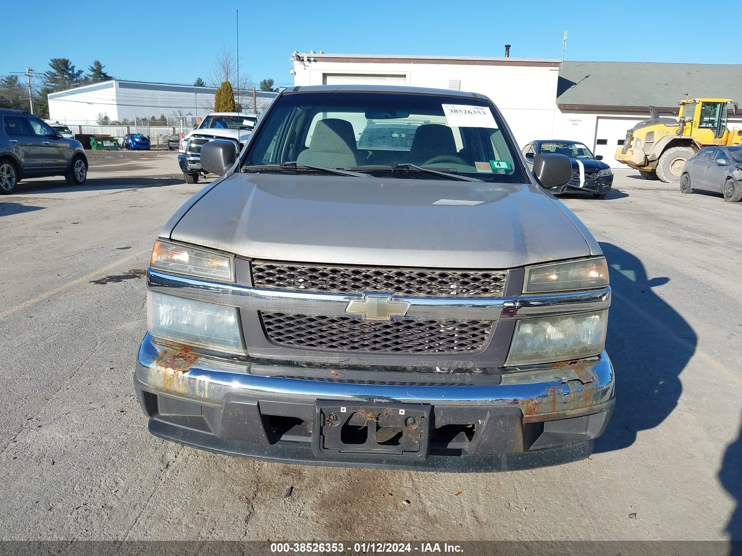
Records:
<instances>
[{"instance_id":1,"label":"silver hood of the Chevrolet pickup in the foreground","mask_svg":"<svg viewBox=\"0 0 742 556\"><path fill-rule=\"evenodd\" d=\"M260 259L513 268L591 254L535 185L234 173L185 210L171 239Z\"/></svg>"}]
</instances>

